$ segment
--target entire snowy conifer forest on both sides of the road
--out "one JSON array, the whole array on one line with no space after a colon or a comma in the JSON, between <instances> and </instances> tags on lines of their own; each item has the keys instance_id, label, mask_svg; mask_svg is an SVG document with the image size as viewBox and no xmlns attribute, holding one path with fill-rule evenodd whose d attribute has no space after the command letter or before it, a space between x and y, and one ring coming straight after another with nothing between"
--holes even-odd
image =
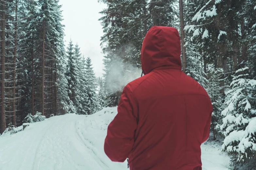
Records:
<instances>
[{"instance_id":1,"label":"entire snowy conifer forest on both sides of the road","mask_svg":"<svg viewBox=\"0 0 256 170\"><path fill-rule=\"evenodd\" d=\"M179 30L183 72L212 100L209 140L222 141L233 169L256 166L256 0L98 2L107 6L99 19L103 78L78 44L65 47L59 0L1 0L0 134L35 115L117 106L124 86L140 77L147 31L171 26Z\"/></svg>"}]
</instances>

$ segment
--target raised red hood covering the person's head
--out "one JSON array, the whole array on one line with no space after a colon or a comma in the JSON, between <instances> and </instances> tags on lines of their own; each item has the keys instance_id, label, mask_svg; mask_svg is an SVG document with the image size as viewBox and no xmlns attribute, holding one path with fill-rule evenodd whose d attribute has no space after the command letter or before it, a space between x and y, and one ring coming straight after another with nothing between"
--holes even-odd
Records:
<instances>
[{"instance_id":1,"label":"raised red hood covering the person's head","mask_svg":"<svg viewBox=\"0 0 256 170\"><path fill-rule=\"evenodd\" d=\"M160 67L181 70L180 55L178 30L173 27L153 26L143 40L141 49L142 70L144 74Z\"/></svg>"}]
</instances>

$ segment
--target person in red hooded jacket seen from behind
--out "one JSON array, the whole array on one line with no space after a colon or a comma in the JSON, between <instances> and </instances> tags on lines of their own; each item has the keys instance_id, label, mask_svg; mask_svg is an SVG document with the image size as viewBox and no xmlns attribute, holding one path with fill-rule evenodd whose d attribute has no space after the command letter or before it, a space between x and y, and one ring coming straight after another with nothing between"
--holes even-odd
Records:
<instances>
[{"instance_id":1,"label":"person in red hooded jacket seen from behind","mask_svg":"<svg viewBox=\"0 0 256 170\"><path fill-rule=\"evenodd\" d=\"M205 89L181 71L180 37L153 26L141 50L144 75L124 88L104 150L131 170L201 170L213 106Z\"/></svg>"}]
</instances>

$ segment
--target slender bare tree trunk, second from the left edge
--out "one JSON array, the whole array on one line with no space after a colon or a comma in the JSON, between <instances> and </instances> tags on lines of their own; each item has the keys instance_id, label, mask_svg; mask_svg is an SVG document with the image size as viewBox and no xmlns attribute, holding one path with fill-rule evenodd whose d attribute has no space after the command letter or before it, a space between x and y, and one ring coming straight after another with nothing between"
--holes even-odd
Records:
<instances>
[{"instance_id":1,"label":"slender bare tree trunk, second from the left edge","mask_svg":"<svg viewBox=\"0 0 256 170\"><path fill-rule=\"evenodd\" d=\"M15 118L15 87L16 87L16 55L17 55L17 22L18 22L18 0L15 2L15 33L14 33L14 56L13 56L13 101L12 101L12 124L16 127Z\"/></svg>"}]
</instances>

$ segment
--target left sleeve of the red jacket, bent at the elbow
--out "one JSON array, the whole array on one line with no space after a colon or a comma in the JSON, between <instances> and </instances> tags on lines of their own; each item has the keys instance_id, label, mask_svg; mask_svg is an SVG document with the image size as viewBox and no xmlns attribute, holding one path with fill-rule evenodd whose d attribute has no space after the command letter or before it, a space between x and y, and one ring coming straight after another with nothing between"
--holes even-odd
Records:
<instances>
[{"instance_id":1,"label":"left sleeve of the red jacket, bent at the elbow","mask_svg":"<svg viewBox=\"0 0 256 170\"><path fill-rule=\"evenodd\" d=\"M124 162L131 152L137 128L137 110L131 91L125 87L104 144L104 151L113 162Z\"/></svg>"}]
</instances>

